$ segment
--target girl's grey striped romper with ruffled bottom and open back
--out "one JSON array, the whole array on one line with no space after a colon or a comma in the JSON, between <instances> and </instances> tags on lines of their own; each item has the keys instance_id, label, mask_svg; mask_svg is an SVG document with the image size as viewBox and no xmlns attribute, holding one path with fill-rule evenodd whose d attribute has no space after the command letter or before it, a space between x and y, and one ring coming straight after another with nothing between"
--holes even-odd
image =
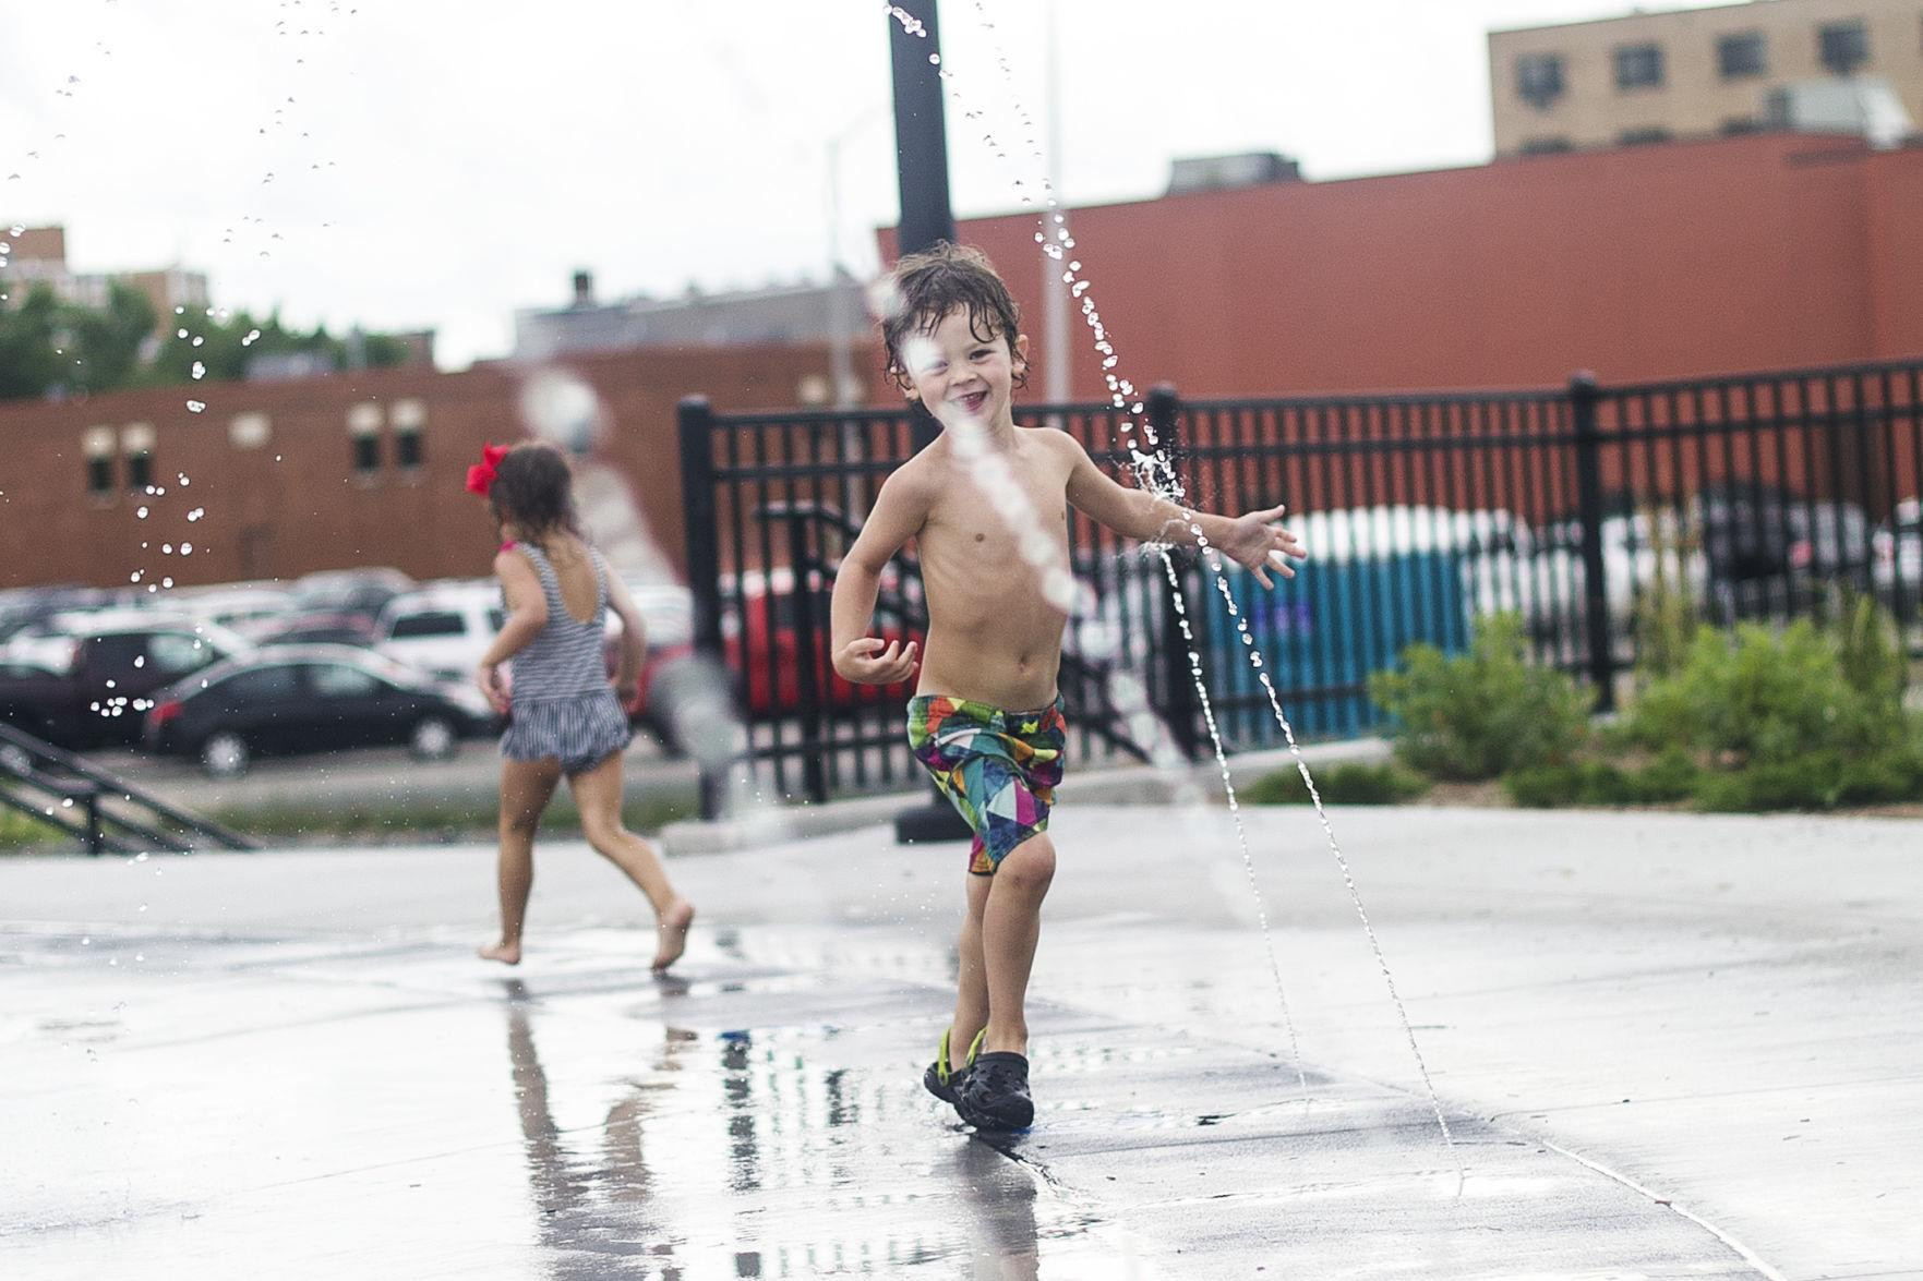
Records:
<instances>
[{"instance_id":1,"label":"girl's grey striped romper with ruffled bottom and open back","mask_svg":"<svg viewBox=\"0 0 1923 1281\"><path fill-rule=\"evenodd\" d=\"M548 623L535 640L510 660L508 733L500 754L510 760L562 762L567 775L592 769L627 746L633 731L621 700L608 683L602 656L608 627L608 565L588 548L594 562L594 617L583 623L562 602L562 583L546 552L529 542L512 544L527 556L540 577L548 600Z\"/></svg>"}]
</instances>

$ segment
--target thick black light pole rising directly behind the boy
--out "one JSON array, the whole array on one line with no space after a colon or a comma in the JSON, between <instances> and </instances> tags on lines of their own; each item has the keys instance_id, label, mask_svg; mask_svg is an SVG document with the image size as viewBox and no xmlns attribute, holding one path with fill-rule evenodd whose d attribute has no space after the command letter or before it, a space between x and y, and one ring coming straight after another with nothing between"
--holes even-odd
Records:
<instances>
[{"instance_id":1,"label":"thick black light pole rising directly behind the boy","mask_svg":"<svg viewBox=\"0 0 1923 1281\"><path fill-rule=\"evenodd\" d=\"M908 0L902 8L921 21L925 35L912 35L892 12L887 15L888 62L894 67L894 173L902 192L896 248L919 254L937 240L956 239L956 215L948 208L948 121L935 62L942 52L935 0ZM940 435L919 400L910 402L908 415L917 446ZM929 804L894 816L894 839L902 842L965 841L969 835L969 825L940 792Z\"/></svg>"}]
</instances>

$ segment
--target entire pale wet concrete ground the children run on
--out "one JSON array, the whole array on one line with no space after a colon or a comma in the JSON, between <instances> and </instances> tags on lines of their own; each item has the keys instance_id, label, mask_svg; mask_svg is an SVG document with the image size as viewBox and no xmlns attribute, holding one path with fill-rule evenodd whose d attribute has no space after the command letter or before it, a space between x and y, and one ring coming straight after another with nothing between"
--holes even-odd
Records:
<instances>
[{"instance_id":1,"label":"entire pale wet concrete ground the children run on","mask_svg":"<svg viewBox=\"0 0 1923 1281\"><path fill-rule=\"evenodd\" d=\"M1923 825L1338 812L1456 1146L1306 812L1058 817L1036 1127L919 1087L962 856L881 829L0 862L6 1277L1923 1275ZM1306 1085L1306 1091L1302 1089Z\"/></svg>"}]
</instances>

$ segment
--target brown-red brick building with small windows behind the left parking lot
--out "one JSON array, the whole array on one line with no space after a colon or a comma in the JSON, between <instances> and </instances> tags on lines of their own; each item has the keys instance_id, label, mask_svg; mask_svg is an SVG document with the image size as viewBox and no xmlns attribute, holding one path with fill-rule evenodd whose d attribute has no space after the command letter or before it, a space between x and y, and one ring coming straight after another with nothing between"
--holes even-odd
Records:
<instances>
[{"instance_id":1,"label":"brown-red brick building with small windows behind the left parking lot","mask_svg":"<svg viewBox=\"0 0 1923 1281\"><path fill-rule=\"evenodd\" d=\"M871 354L856 360L858 369L873 367ZM562 367L600 396L604 448L635 485L656 540L681 565L677 400L700 392L719 410L790 406L802 379L825 377L829 360L825 348L700 348L587 356ZM0 404L0 587L123 585L137 569L142 581L171 575L183 587L346 565L396 565L419 579L487 573L492 525L463 479L483 442L523 435L525 373L504 364L465 373L383 369ZM208 410L188 412L190 396ZM385 412L408 398L425 408L425 465L400 471L392 429L383 427L383 465L358 477L350 406L377 402ZM263 446L231 444L238 414L267 415ZM94 498L87 431L112 427L117 437L129 423L152 423L154 481L165 494L121 487ZM187 487L181 473L190 477ZM140 506L146 519L137 515ZM194 508L206 515L188 521ZM183 540L194 544L192 556L162 552Z\"/></svg>"}]
</instances>

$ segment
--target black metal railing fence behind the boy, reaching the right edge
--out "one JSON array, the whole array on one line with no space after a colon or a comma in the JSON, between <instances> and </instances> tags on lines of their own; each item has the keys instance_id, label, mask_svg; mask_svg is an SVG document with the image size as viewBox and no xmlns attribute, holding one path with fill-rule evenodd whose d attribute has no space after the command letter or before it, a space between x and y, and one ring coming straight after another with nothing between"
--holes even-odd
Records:
<instances>
[{"instance_id":1,"label":"black metal railing fence behind the boy, reaching the right edge","mask_svg":"<svg viewBox=\"0 0 1923 1281\"><path fill-rule=\"evenodd\" d=\"M1125 419L1106 404L1017 412L1113 473L1129 465ZM1177 556L1198 692L1161 560L1071 512L1073 569L1096 602L1069 621L1061 669L1079 760L1144 758L1131 716L1144 700L1179 750L1206 750L1202 692L1231 750L1273 744L1260 671L1298 737L1369 731L1371 671L1417 640L1461 648L1496 612L1519 614L1538 658L1588 681L1600 706L1658 587L1713 621L1786 619L1840 589L1875 594L1910 629L1919 617L1923 362L1633 387L1579 375L1517 392L1183 402L1158 389L1146 421L1190 502L1288 502L1313 560L1263 590ZM781 796L919 781L908 691L835 677L827 610L840 554L915 448L904 410L681 406L696 646L733 673L748 756ZM875 625L908 639L925 623L904 554Z\"/></svg>"}]
</instances>

